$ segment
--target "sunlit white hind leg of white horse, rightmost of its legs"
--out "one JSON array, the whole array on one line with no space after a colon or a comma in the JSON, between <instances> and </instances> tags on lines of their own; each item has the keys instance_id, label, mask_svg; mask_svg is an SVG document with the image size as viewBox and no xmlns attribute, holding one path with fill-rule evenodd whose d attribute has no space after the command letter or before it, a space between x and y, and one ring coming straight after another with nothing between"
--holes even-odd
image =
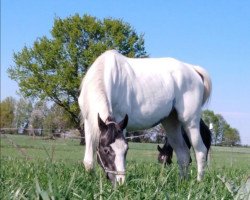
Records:
<instances>
[{"instance_id":1,"label":"sunlit white hind leg of white horse, rightmost of its legs","mask_svg":"<svg viewBox=\"0 0 250 200\"><path fill-rule=\"evenodd\" d=\"M206 168L207 148L204 145L201 135L200 135L200 123L199 122L200 120L196 119L189 123L186 123L184 127L195 152L197 168L198 168L197 180L201 181L204 176L204 172Z\"/></svg>"}]
</instances>

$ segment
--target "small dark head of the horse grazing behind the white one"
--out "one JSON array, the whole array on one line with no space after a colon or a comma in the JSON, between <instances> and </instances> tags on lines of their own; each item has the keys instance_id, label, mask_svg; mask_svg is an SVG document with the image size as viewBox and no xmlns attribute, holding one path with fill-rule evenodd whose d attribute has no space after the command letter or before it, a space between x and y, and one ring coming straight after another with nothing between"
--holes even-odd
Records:
<instances>
[{"instance_id":1,"label":"small dark head of the horse grazing behind the white one","mask_svg":"<svg viewBox=\"0 0 250 200\"><path fill-rule=\"evenodd\" d=\"M162 148L158 145L157 149L159 151L158 155L159 163L162 163L164 165L166 164L170 165L172 163L173 148L166 141L166 143Z\"/></svg>"}]
</instances>

